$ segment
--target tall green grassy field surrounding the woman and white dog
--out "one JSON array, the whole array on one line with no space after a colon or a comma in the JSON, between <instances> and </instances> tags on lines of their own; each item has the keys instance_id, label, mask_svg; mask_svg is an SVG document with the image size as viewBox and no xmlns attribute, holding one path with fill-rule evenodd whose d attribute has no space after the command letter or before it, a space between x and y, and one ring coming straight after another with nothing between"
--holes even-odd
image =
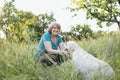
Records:
<instances>
[{"instance_id":1,"label":"tall green grassy field surrounding the woman and white dog","mask_svg":"<svg viewBox=\"0 0 120 80\"><path fill-rule=\"evenodd\" d=\"M120 34L76 41L83 49L107 62L120 80ZM0 40L0 80L80 80L70 60L61 66L44 68L34 62L37 42L15 43ZM82 75L81 75L82 76Z\"/></svg>"}]
</instances>

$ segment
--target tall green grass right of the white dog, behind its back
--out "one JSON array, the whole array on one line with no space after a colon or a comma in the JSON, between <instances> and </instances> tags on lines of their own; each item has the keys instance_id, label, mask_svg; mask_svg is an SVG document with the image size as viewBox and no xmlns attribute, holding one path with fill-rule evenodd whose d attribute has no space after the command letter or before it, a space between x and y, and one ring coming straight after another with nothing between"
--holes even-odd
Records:
<instances>
[{"instance_id":1,"label":"tall green grass right of the white dog, behind its back","mask_svg":"<svg viewBox=\"0 0 120 80\"><path fill-rule=\"evenodd\" d=\"M116 77L120 79L120 32L111 32L97 39L82 40L78 42L82 48L87 50L95 57L107 62L115 70Z\"/></svg>"}]
</instances>

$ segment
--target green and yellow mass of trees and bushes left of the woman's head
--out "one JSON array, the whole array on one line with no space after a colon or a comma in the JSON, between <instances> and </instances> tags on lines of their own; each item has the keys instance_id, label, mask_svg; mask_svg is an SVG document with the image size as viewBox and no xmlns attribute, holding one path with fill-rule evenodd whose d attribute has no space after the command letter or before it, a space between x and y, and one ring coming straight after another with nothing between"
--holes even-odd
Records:
<instances>
[{"instance_id":1,"label":"green and yellow mass of trees and bushes left of the woman's head","mask_svg":"<svg viewBox=\"0 0 120 80\"><path fill-rule=\"evenodd\" d=\"M53 13L34 15L20 11L13 5L14 0L5 2L0 15L0 27L6 32L7 39L16 42L39 40L48 24L55 21Z\"/></svg>"}]
</instances>

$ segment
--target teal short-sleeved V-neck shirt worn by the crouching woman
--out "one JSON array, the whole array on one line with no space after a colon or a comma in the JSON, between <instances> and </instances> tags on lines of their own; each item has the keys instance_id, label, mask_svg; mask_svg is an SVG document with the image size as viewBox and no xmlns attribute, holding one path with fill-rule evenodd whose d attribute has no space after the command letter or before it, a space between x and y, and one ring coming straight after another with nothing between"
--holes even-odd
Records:
<instances>
[{"instance_id":1,"label":"teal short-sleeved V-neck shirt worn by the crouching woman","mask_svg":"<svg viewBox=\"0 0 120 80\"><path fill-rule=\"evenodd\" d=\"M38 57L41 52L47 53L47 50L45 49L45 46L44 46L44 41L50 41L50 42L51 42L52 49L57 50L59 44L62 42L62 38L61 38L61 36L58 35L58 36L56 37L56 44L54 44L54 43L52 42L51 34L50 34L49 32L45 32L45 33L43 34L43 36L41 37L40 41L39 41L39 44L38 44L38 48L37 48L37 52L36 52L36 54L35 54L35 57Z\"/></svg>"}]
</instances>

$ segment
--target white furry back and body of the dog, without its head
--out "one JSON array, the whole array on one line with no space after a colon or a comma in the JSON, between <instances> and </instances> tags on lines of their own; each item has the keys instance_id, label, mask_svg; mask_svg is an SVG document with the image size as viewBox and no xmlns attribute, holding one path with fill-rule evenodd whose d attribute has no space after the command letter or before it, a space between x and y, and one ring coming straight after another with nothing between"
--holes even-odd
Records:
<instances>
[{"instance_id":1,"label":"white furry back and body of the dog, without its head","mask_svg":"<svg viewBox=\"0 0 120 80\"><path fill-rule=\"evenodd\" d=\"M103 80L111 80L114 77L115 74L110 65L90 54L81 55L81 53L85 52L80 50L74 51L72 61L76 69L85 74L87 80L95 76L105 78Z\"/></svg>"}]
</instances>

